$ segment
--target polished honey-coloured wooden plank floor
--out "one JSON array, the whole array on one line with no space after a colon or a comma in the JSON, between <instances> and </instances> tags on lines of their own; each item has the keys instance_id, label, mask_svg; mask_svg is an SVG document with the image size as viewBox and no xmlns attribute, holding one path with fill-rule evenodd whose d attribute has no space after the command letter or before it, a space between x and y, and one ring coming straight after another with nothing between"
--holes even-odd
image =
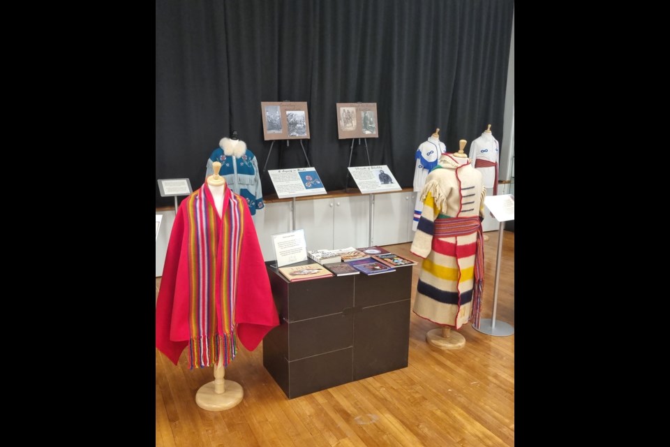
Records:
<instances>
[{"instance_id":1,"label":"polished honey-coloured wooden plank floor","mask_svg":"<svg viewBox=\"0 0 670 447\"><path fill-rule=\"evenodd\" d=\"M486 235L482 318L491 318L498 232ZM409 247L386 246L418 260ZM514 325L514 233L505 231L502 248L497 320ZM514 335L465 325L463 349L437 351L425 339L436 327L412 313L408 367L293 400L263 367L262 344L239 344L225 379L241 384L244 399L221 412L195 404L211 368L188 369L186 350L174 366L156 350L156 446L514 446Z\"/></svg>"}]
</instances>

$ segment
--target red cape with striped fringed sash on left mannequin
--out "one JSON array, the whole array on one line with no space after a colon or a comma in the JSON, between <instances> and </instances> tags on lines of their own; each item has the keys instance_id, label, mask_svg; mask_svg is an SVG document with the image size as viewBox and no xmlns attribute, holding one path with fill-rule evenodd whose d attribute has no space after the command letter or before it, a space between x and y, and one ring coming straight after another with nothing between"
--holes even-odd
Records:
<instances>
[{"instance_id":1,"label":"red cape with striped fringed sash on left mannequin","mask_svg":"<svg viewBox=\"0 0 670 447\"><path fill-rule=\"evenodd\" d=\"M225 186L221 217L205 184L174 219L156 301L156 348L177 365L186 346L193 367L233 360L237 339L258 346L279 325L246 200Z\"/></svg>"}]
</instances>

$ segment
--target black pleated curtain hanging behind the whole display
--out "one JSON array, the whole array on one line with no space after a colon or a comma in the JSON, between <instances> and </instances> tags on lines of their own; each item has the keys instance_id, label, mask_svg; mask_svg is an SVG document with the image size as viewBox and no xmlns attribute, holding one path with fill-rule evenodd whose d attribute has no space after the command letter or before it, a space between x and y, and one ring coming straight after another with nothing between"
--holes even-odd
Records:
<instances>
[{"instance_id":1,"label":"black pleated curtain hanging behind the whole display","mask_svg":"<svg viewBox=\"0 0 670 447\"><path fill-rule=\"evenodd\" d=\"M262 170L260 103L290 100L308 105L311 165L344 189L352 140L337 138L335 104L360 101L377 103L372 164L412 186L435 128L448 152L486 124L502 142L513 13L513 0L156 0L156 179L197 189L233 130ZM355 146L352 166L367 164ZM275 142L268 170L303 167L299 140ZM156 207L174 203L154 186ZM267 173L262 186L274 193Z\"/></svg>"}]
</instances>

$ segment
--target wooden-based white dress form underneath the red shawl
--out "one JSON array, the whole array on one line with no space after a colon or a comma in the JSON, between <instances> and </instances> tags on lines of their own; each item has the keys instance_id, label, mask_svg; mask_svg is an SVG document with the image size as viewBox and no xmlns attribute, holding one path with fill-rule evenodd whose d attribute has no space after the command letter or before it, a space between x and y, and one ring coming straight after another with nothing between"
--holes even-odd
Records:
<instances>
[{"instance_id":1,"label":"wooden-based white dress form underneath the red shawl","mask_svg":"<svg viewBox=\"0 0 670 447\"><path fill-rule=\"evenodd\" d=\"M219 217L223 214L223 197L225 193L225 179L218 175L221 163L213 163L214 175L207 177L207 187L214 198L214 207ZM219 352L218 362L214 365L214 381L205 383L195 394L195 403L200 408L209 411L222 411L239 404L244 397L242 386L232 380L223 379L225 368L223 367L223 351Z\"/></svg>"}]
</instances>

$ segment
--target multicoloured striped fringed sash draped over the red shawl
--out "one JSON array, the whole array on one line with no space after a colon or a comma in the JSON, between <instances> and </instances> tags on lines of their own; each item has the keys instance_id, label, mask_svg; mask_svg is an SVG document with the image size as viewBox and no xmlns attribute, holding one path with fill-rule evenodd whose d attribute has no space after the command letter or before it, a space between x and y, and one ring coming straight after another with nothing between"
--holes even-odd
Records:
<instances>
[{"instance_id":1,"label":"multicoloured striped fringed sash draped over the red shawl","mask_svg":"<svg viewBox=\"0 0 670 447\"><path fill-rule=\"evenodd\" d=\"M228 206L219 223L206 188L203 185L186 199L191 369L216 365L221 350L226 366L237 353L234 314L244 213L239 197L229 192Z\"/></svg>"}]
</instances>

